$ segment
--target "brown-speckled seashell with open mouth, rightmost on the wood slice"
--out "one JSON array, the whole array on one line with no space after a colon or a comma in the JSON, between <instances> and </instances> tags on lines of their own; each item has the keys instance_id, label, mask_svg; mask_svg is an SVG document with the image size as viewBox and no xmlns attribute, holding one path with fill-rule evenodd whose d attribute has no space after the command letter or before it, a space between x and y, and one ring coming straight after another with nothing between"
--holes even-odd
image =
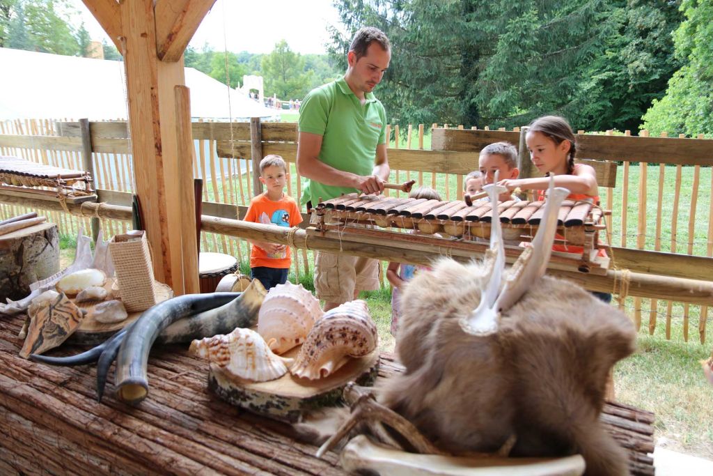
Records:
<instances>
[{"instance_id":1,"label":"brown-speckled seashell with open mouth, rightmost on the wood slice","mask_svg":"<svg viewBox=\"0 0 713 476\"><path fill-rule=\"evenodd\" d=\"M376 348L379 335L364 300L327 311L299 349L292 375L315 380L342 367L349 357L363 357Z\"/></svg>"}]
</instances>

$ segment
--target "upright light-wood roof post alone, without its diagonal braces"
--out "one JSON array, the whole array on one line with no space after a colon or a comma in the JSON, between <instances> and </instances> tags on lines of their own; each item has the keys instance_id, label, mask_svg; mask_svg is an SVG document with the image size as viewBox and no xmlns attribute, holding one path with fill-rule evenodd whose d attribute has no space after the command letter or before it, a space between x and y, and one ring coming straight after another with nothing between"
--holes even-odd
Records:
<instances>
[{"instance_id":1,"label":"upright light-wood roof post alone, without its diagonal braces","mask_svg":"<svg viewBox=\"0 0 713 476\"><path fill-rule=\"evenodd\" d=\"M153 253L155 279L180 295L180 236L172 238L169 231L180 230L173 86L185 84L183 60L165 63L156 56L153 0L127 0L120 10L136 193Z\"/></svg>"}]
</instances>

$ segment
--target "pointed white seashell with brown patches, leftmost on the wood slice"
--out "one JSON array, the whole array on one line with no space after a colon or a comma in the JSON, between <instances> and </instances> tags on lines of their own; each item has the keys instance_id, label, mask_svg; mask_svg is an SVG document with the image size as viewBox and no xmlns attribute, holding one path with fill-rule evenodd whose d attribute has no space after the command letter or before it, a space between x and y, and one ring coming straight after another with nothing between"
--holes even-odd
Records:
<instances>
[{"instance_id":1,"label":"pointed white seashell with brown patches, leftmost on the wood slice","mask_svg":"<svg viewBox=\"0 0 713 476\"><path fill-rule=\"evenodd\" d=\"M292 365L294 360L275 355L260 334L245 328L193 340L188 353L206 358L228 373L253 382L282 377L287 373L287 365Z\"/></svg>"}]
</instances>

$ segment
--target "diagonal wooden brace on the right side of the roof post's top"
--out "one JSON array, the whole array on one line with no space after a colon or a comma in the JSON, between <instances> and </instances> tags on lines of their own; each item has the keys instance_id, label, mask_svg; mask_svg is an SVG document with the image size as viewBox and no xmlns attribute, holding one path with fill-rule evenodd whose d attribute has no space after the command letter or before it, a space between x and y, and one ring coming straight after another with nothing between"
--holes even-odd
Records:
<instances>
[{"instance_id":1,"label":"diagonal wooden brace on the right side of the roof post's top","mask_svg":"<svg viewBox=\"0 0 713 476\"><path fill-rule=\"evenodd\" d=\"M156 1L154 13L158 59L166 62L178 61L213 4L215 0Z\"/></svg>"}]
</instances>

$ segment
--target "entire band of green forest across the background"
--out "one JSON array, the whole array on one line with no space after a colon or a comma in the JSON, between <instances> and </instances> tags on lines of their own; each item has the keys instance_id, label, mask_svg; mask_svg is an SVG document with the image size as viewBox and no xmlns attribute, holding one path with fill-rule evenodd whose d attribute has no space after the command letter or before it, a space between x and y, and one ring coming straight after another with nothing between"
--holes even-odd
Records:
<instances>
[{"instance_id":1,"label":"entire band of green forest across the background","mask_svg":"<svg viewBox=\"0 0 713 476\"><path fill-rule=\"evenodd\" d=\"M522 126L560 113L577 129L713 136L713 0L335 0L329 54L189 46L185 66L300 99L343 74L363 25L391 39L378 97L391 123ZM0 47L87 56L66 0L0 0ZM278 27L279 26L275 26ZM296 26L299 28L299 26ZM247 43L247 41L246 41ZM104 44L106 59L120 60ZM226 67L227 65L227 67Z\"/></svg>"}]
</instances>

